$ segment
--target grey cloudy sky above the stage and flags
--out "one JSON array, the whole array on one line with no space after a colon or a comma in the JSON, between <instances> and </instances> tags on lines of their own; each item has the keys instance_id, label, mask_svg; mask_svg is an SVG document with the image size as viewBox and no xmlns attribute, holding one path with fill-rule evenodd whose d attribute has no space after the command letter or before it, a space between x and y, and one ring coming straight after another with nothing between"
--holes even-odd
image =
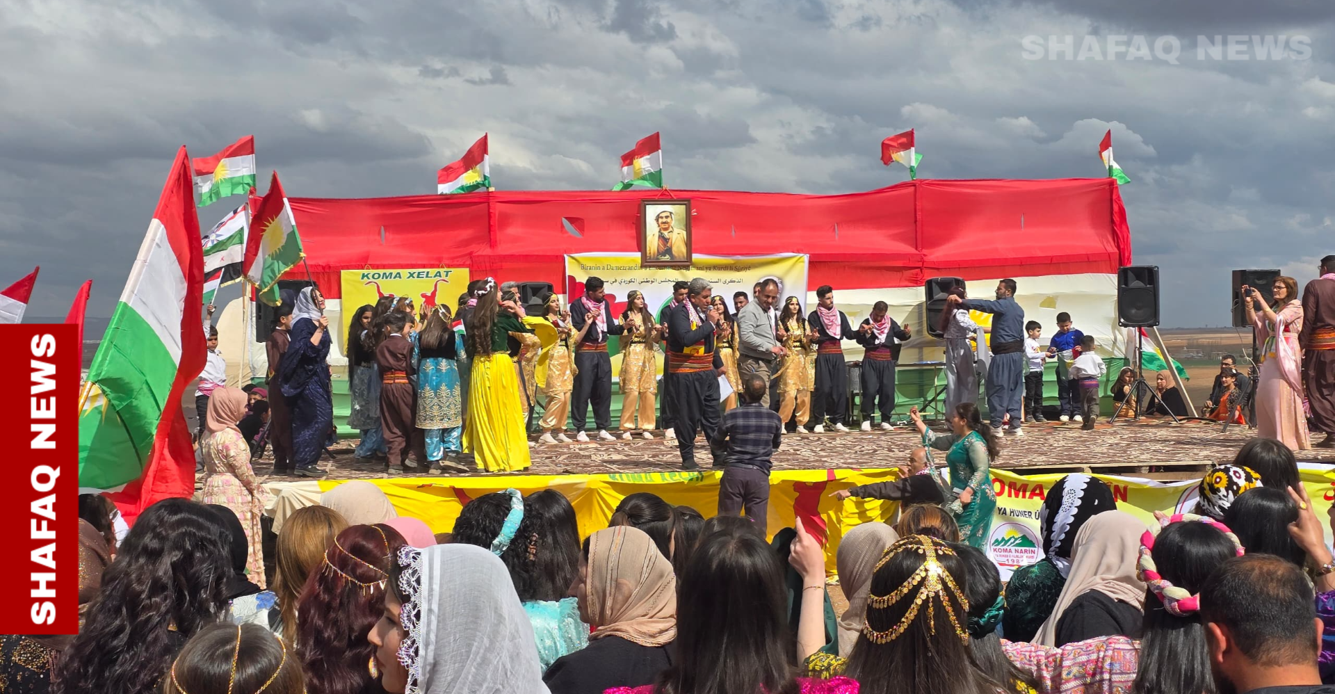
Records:
<instances>
[{"instance_id":1,"label":"grey cloudy sky above the stage and flags","mask_svg":"<svg viewBox=\"0 0 1335 694\"><path fill-rule=\"evenodd\" d=\"M434 192L483 131L503 188L606 190L661 129L676 188L832 194L904 180L878 141L910 127L941 179L1096 176L1111 127L1164 324L1218 326L1230 270L1304 282L1335 254L1332 16L1328 0L7 0L0 283L41 264L29 315L51 316L92 278L89 315L109 315L175 148L248 133L290 195L352 198Z\"/></svg>"}]
</instances>

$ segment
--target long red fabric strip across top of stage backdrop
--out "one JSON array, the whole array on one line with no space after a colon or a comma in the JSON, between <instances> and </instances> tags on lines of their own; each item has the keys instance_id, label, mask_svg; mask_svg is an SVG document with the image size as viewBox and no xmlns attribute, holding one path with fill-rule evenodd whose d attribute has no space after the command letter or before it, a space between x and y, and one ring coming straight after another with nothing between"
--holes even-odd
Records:
<instances>
[{"instance_id":1,"label":"long red fabric strip across top of stage backdrop","mask_svg":"<svg viewBox=\"0 0 1335 694\"><path fill-rule=\"evenodd\" d=\"M1116 182L912 180L848 195L663 191L692 200L693 251L798 252L809 288L1113 274L1131 263ZM645 191L495 191L375 199L291 198L327 298L342 270L467 267L499 282L562 284L567 254L637 252ZM298 278L298 275L300 275ZM288 279L304 279L292 271Z\"/></svg>"}]
</instances>

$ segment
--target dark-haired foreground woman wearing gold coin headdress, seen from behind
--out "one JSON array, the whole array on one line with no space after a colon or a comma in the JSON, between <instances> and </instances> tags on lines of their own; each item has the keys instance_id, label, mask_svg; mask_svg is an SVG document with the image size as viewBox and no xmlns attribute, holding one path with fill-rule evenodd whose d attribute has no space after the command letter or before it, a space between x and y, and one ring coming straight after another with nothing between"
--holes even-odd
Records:
<instances>
[{"instance_id":1,"label":"dark-haired foreground woman wearing gold coin headdress, seen from behind","mask_svg":"<svg viewBox=\"0 0 1335 694\"><path fill-rule=\"evenodd\" d=\"M890 545L872 573L862 633L849 657L800 654L820 677L842 674L861 693L997 694L1005 687L972 665L967 565L936 538Z\"/></svg>"}]
</instances>

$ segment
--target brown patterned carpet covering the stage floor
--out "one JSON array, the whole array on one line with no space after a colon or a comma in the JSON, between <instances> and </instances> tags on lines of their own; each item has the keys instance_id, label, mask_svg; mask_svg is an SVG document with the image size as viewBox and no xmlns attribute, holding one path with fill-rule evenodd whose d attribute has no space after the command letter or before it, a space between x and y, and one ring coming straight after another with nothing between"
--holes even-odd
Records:
<instances>
[{"instance_id":1,"label":"brown patterned carpet covering the stage floor","mask_svg":"<svg viewBox=\"0 0 1335 694\"><path fill-rule=\"evenodd\" d=\"M941 430L943 427L937 427ZM1145 420L1100 422L1095 431L1081 431L1080 424L1028 424L1024 436L1004 436L1003 452L996 462L1000 468L1033 468L1033 471L1095 471L1116 475L1148 476L1152 479L1188 479L1200 476L1210 464L1234 459L1238 448L1255 435L1247 427L1220 424ZM677 442L668 442L662 432L653 440L634 439L615 442L542 444L531 448L533 467L529 474L626 474L681 470ZM1320 435L1314 435L1320 440ZM367 479L383 476L382 462L356 464L352 459L354 440L340 442L335 460L324 458L330 479ZM908 458L920 444L912 428L882 432L786 435L774 454L774 467L782 470L870 468L892 467ZM696 459L709 464L709 452L697 438ZM1300 462L1335 463L1335 448L1303 451ZM272 458L256 462L256 472L266 482L299 479L290 475L266 475ZM943 462L941 455L937 456ZM708 468L708 467L706 467ZM485 474L485 472L474 472Z\"/></svg>"}]
</instances>

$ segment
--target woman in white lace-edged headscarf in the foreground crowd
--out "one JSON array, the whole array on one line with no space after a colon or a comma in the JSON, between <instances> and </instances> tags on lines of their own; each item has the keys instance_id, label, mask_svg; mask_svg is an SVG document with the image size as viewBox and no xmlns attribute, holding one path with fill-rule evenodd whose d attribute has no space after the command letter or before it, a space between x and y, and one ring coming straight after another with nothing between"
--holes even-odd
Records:
<instances>
[{"instance_id":1,"label":"woman in white lace-edged headscarf in the foreground crowd","mask_svg":"<svg viewBox=\"0 0 1335 694\"><path fill-rule=\"evenodd\" d=\"M529 615L494 554L471 545L403 547L388 585L367 663L386 691L547 694Z\"/></svg>"}]
</instances>

